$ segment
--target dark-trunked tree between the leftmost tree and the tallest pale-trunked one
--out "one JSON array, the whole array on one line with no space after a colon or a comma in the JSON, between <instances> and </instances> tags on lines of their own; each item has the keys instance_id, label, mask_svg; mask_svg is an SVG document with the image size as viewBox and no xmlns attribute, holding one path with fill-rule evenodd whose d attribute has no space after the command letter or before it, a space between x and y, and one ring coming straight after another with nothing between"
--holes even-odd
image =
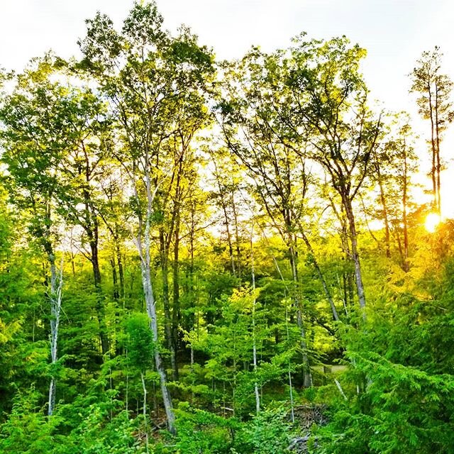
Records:
<instances>
[{"instance_id":1,"label":"dark-trunked tree between the leftmost tree and the tallest pale-trunked one","mask_svg":"<svg viewBox=\"0 0 454 454\"><path fill-rule=\"evenodd\" d=\"M104 160L107 155L106 106L80 80L79 89L74 88L74 146L63 156L58 172L62 190L57 192L60 211L67 223L82 227L79 250L92 264L93 283L96 291L96 315L99 324L101 351L109 350L104 301L101 290L101 267L99 265L99 231L101 210L101 181L105 175ZM86 252L85 246L88 243Z\"/></svg>"}]
</instances>

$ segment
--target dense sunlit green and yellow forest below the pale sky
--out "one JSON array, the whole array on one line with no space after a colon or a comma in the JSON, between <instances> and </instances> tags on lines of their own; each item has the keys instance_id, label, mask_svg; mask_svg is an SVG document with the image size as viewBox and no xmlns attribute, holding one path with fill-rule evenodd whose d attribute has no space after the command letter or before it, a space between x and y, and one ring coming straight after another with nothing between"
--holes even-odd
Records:
<instances>
[{"instance_id":1,"label":"dense sunlit green and yellow forest below the pale sky","mask_svg":"<svg viewBox=\"0 0 454 454\"><path fill-rule=\"evenodd\" d=\"M454 453L441 49L416 133L345 36L78 45L0 71L0 453Z\"/></svg>"}]
</instances>

